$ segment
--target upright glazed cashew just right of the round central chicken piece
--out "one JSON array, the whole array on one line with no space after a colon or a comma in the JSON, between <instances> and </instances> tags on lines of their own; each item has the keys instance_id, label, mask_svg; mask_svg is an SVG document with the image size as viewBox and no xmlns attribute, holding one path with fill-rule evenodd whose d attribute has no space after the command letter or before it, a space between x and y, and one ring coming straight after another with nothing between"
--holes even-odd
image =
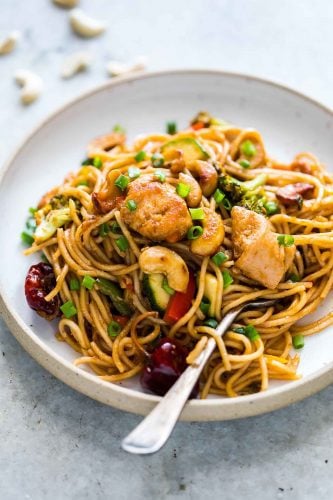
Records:
<instances>
[{"instance_id":1,"label":"upright glazed cashew just right of the round central chicken piece","mask_svg":"<svg viewBox=\"0 0 333 500\"><path fill-rule=\"evenodd\" d=\"M197 255L213 255L224 239L222 218L210 208L203 209L205 218L202 221L203 233L191 241L191 251Z\"/></svg>"}]
</instances>

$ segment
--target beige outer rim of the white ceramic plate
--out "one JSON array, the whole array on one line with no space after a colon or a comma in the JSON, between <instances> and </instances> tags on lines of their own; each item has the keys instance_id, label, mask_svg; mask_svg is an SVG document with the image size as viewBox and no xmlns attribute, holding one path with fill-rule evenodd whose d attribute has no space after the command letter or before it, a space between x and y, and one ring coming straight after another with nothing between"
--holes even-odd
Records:
<instances>
[{"instance_id":1,"label":"beige outer rim of the white ceramic plate","mask_svg":"<svg viewBox=\"0 0 333 500\"><path fill-rule=\"evenodd\" d=\"M127 82L144 80L155 77L172 75L212 75L229 78L238 78L255 83L275 87L289 94L296 95L306 102L322 109L333 118L333 109L317 101L316 99L292 88L284 83L274 80L246 74L242 72L223 71L218 69L164 69L159 71L148 71L144 73L132 74L94 85L92 88L80 93L79 96L67 100L55 110L39 120L30 132L24 135L17 146L14 146L8 158L0 168L0 185L10 169L11 164L21 153L23 148L45 125L51 122L62 112L79 103L94 94L126 84ZM96 375L85 372L76 367L70 361L65 360L59 354L55 353L50 347L45 345L39 336L33 330L25 325L18 313L13 309L9 298L0 282L0 314L11 334L18 340L28 354L35 359L43 368L54 375L58 380L69 385L78 392L95 399L101 403L108 404L120 410L136 413L140 415L147 414L154 405L160 400L159 396L146 394L134 389L124 388L118 384L111 384L100 380ZM37 347L37 350L36 350ZM82 380L82 382L81 382ZM333 382L333 361L327 363L320 370L311 375L303 377L297 381L285 383L266 392L260 392L253 395L242 396L239 398L220 399L212 398L206 400L189 401L182 414L181 420L187 421L210 421L210 420L231 420L236 418L259 415L269 411L288 406L308 397L321 389L324 389ZM100 390L97 390L100 389ZM111 389L111 390L110 390ZM105 395L109 392L109 395ZM223 401L223 404L221 404ZM136 407L136 404L138 407ZM206 415L201 415L206 412Z\"/></svg>"}]
</instances>

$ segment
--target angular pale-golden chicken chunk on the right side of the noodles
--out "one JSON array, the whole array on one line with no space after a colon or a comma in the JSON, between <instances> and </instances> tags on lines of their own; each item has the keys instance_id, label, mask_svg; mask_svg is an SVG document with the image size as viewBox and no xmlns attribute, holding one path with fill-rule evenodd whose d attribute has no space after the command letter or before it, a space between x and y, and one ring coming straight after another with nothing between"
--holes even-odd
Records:
<instances>
[{"instance_id":1,"label":"angular pale-golden chicken chunk on the right side of the noodles","mask_svg":"<svg viewBox=\"0 0 333 500\"><path fill-rule=\"evenodd\" d=\"M246 208L234 207L231 221L235 265L265 287L276 288L294 258L295 245L280 246L269 221Z\"/></svg>"}]
</instances>

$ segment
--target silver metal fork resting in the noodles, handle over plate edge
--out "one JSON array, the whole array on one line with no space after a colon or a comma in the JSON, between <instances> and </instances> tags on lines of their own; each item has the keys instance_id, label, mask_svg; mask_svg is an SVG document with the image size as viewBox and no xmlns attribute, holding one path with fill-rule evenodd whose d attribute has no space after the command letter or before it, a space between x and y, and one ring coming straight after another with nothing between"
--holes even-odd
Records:
<instances>
[{"instance_id":1,"label":"silver metal fork resting in the noodles, handle over plate edge","mask_svg":"<svg viewBox=\"0 0 333 500\"><path fill-rule=\"evenodd\" d=\"M275 300L257 300L233 309L224 316L217 326L217 335L222 337L242 311L262 309L275 303ZM215 346L215 340L211 337L195 362L186 368L155 408L122 441L121 446L125 451L146 455L162 448L176 425L179 415Z\"/></svg>"}]
</instances>

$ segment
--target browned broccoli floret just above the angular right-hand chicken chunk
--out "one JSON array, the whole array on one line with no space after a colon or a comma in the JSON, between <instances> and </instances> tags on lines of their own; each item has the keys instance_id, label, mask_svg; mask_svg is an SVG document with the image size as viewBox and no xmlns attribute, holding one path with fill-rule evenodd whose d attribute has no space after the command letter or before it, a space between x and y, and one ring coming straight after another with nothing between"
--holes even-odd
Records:
<instances>
[{"instance_id":1,"label":"browned broccoli floret just above the angular right-hand chicken chunk","mask_svg":"<svg viewBox=\"0 0 333 500\"><path fill-rule=\"evenodd\" d=\"M239 181L230 175L222 175L219 178L219 188L226 195L231 205L238 205L253 212L265 214L265 197L259 188L265 184L266 174L260 174L250 181Z\"/></svg>"}]
</instances>

